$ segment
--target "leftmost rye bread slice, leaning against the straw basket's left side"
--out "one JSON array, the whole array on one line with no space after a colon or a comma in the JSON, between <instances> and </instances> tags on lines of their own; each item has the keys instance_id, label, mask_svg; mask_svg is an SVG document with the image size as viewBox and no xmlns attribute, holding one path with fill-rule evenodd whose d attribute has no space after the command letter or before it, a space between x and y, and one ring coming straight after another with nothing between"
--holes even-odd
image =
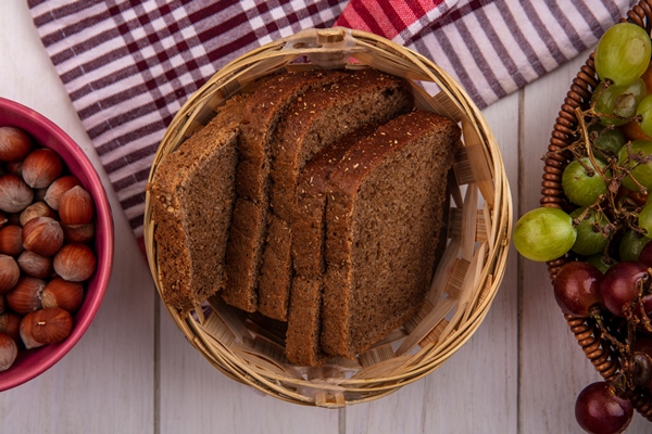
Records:
<instances>
[{"instance_id":1,"label":"leftmost rye bread slice, leaning against the straw basket's left side","mask_svg":"<svg viewBox=\"0 0 652 434\"><path fill-rule=\"evenodd\" d=\"M148 187L162 296L184 312L224 289L224 260L236 199L236 152L246 97L218 108L167 155Z\"/></svg>"}]
</instances>

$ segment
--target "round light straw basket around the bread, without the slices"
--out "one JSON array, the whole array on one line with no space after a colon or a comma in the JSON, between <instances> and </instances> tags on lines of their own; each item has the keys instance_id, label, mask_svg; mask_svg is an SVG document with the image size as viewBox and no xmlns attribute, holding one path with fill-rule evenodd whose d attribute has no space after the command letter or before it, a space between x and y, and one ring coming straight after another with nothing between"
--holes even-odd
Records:
<instances>
[{"instance_id":1,"label":"round light straw basket around the bread, without the slices","mask_svg":"<svg viewBox=\"0 0 652 434\"><path fill-rule=\"evenodd\" d=\"M446 251L422 311L354 360L321 368L291 365L284 335L260 315L243 315L213 296L187 316L170 315L201 354L228 376L280 399L343 407L375 399L443 363L479 327L505 269L512 202L504 166L481 113L449 75L422 55L372 34L308 29L253 50L224 66L181 107L155 155L150 181L167 154L202 128L214 107L248 82L278 68L374 67L413 84L417 106L462 126L464 145L450 183ZM427 85L424 85L427 84ZM431 97L426 87L438 90ZM149 193L145 240L162 292Z\"/></svg>"}]
</instances>

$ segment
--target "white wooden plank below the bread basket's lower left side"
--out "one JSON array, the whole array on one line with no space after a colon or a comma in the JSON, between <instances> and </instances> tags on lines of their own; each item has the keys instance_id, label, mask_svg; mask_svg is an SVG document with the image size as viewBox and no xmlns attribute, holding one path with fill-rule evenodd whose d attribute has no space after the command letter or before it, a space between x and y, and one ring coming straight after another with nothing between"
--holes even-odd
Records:
<instances>
[{"instance_id":1,"label":"white wooden plank below the bread basket's lower left side","mask_svg":"<svg viewBox=\"0 0 652 434\"><path fill-rule=\"evenodd\" d=\"M161 305L161 434L338 433L339 410L304 407L231 380L186 340Z\"/></svg>"}]
</instances>

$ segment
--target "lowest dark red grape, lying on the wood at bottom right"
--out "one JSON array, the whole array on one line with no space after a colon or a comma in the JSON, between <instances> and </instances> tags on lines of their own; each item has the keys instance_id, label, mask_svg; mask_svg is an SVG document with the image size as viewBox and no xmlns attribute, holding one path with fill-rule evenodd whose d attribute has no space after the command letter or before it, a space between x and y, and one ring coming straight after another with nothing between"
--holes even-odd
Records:
<instances>
[{"instance_id":1,"label":"lowest dark red grape, lying on the wood at bottom right","mask_svg":"<svg viewBox=\"0 0 652 434\"><path fill-rule=\"evenodd\" d=\"M575 419L587 433L622 433L632 417L631 401L617 396L604 381L586 386L575 401Z\"/></svg>"}]
</instances>

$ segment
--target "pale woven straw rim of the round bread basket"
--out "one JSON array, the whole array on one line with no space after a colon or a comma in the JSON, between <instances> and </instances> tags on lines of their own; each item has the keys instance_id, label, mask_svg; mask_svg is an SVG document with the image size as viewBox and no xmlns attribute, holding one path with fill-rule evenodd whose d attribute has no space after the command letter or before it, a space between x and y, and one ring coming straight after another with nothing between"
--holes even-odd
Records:
<instances>
[{"instance_id":1,"label":"pale woven straw rim of the round bread basket","mask_svg":"<svg viewBox=\"0 0 652 434\"><path fill-rule=\"evenodd\" d=\"M308 56L310 63L290 64L299 56ZM351 63L352 59L354 60L353 63ZM204 117L211 104L237 93L250 80L280 67L342 66L352 68L375 67L408 78L411 82L430 81L435 84L440 91L436 95L437 98L429 94L417 94L419 103L425 104L430 111L439 112L459 120L465 132L466 149L469 153L473 151L475 158L485 162L484 173L478 171L479 169L472 164L475 177L472 182L474 187L465 187L467 192L469 189L479 191L477 194L484 201L484 215L488 219L487 225L490 228L487 230L487 240L479 243L481 244L481 250L478 248L480 252L478 253L475 250L472 252L475 256L469 267L473 267L474 261L477 265L474 268L475 275L469 278L469 281L477 282L478 288L474 288L473 294L466 295L468 305L457 306L455 315L460 315L464 320L457 320L459 323L453 324L454 327L451 330L444 330L444 332L448 332L446 339L442 342L438 341L437 345L431 345L437 347L436 349L440 349L439 353L435 353L434 356L430 356L430 353L423 353L425 356L421 357L419 354L424 350L417 352L416 355L423 360L419 359L409 370L377 379L338 376L337 380L330 382L318 382L302 378L301 374L285 376L283 373L271 370L265 371L264 368L243 362L234 356L231 350L226 349L218 342L215 343L213 337L203 333L196 316L181 317L176 309L164 303L168 314L191 345L221 372L280 399L294 404L323 407L342 407L376 399L434 371L474 334L486 317L498 292L505 272L509 254L513 218L512 197L496 138L481 112L467 93L434 62L385 38L343 27L305 29L296 35L272 41L229 62L195 92L170 124L154 156L148 180L148 182L152 182L162 158L167 153L173 152L184 138L192 132L191 128L198 128L200 124L203 125L202 120L205 122ZM238 80L243 80L243 82ZM421 90L416 92L419 93ZM479 163L475 163L475 165L481 166ZM459 193L457 196L462 197L462 194ZM471 207L467 204L463 205L465 206L462 206L462 209ZM473 206L477 207L477 203ZM475 208L471 207L471 209ZM474 213L479 213L479 210ZM154 226L150 192L146 190L143 237L150 271L161 295L156 248L153 240ZM467 240L466 244L473 246L478 243L475 242L474 238L472 241ZM455 260L457 260L456 257ZM464 310L461 310L462 307ZM410 357L414 357L414 355L410 355ZM394 359L397 357L390 359L390 361ZM342 369L347 370L346 367Z\"/></svg>"}]
</instances>

